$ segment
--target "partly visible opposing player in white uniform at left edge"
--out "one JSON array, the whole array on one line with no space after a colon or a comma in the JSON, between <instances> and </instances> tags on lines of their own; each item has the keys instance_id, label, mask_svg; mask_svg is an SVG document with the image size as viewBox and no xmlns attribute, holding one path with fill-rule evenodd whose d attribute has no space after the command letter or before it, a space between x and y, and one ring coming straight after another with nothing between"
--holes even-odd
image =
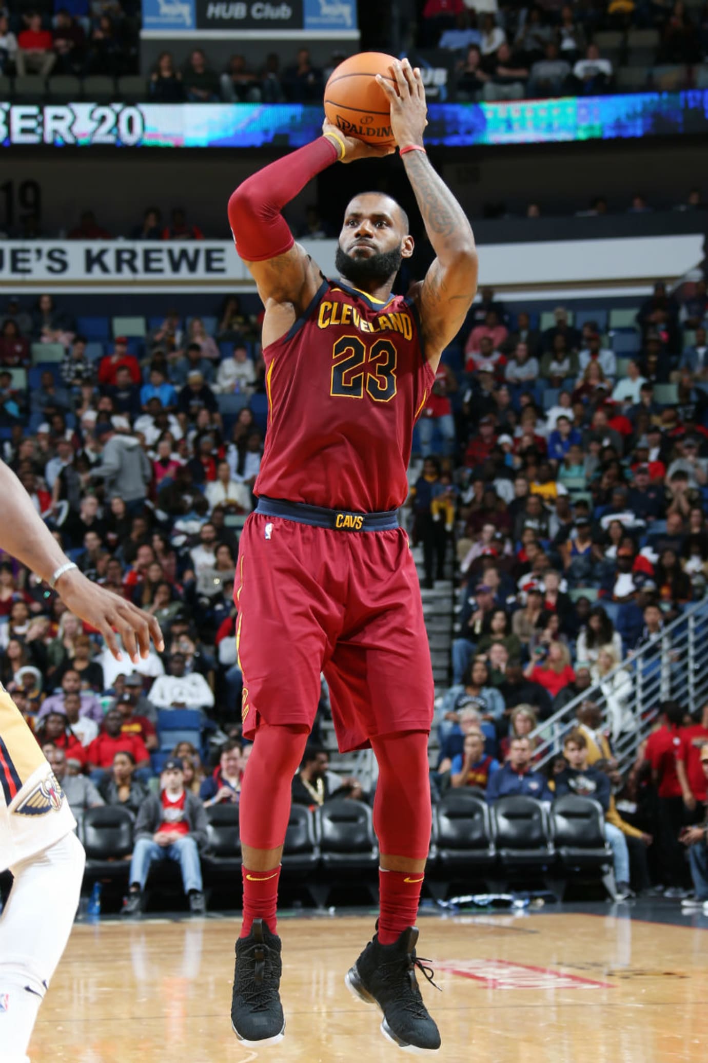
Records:
<instances>
[{"instance_id":1,"label":"partly visible opposing player in white uniform at left edge","mask_svg":"<svg viewBox=\"0 0 708 1063\"><path fill-rule=\"evenodd\" d=\"M0 461L0 546L55 588L66 606L98 628L115 657L158 649L157 621L90 583L68 560L15 474ZM0 687L0 872L14 875L0 916L0 1060L29 1063L39 1006L69 938L84 874L74 817L30 728Z\"/></svg>"}]
</instances>

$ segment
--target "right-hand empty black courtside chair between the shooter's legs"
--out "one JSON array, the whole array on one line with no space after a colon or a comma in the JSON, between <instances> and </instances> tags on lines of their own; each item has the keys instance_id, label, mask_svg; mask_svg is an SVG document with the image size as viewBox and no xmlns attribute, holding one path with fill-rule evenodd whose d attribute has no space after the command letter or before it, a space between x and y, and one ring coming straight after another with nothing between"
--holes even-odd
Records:
<instances>
[{"instance_id":1,"label":"right-hand empty black courtside chair between the shooter's legs","mask_svg":"<svg viewBox=\"0 0 708 1063\"><path fill-rule=\"evenodd\" d=\"M378 866L372 810L363 802L327 802L315 810L315 829L325 867L348 874Z\"/></svg>"}]
</instances>

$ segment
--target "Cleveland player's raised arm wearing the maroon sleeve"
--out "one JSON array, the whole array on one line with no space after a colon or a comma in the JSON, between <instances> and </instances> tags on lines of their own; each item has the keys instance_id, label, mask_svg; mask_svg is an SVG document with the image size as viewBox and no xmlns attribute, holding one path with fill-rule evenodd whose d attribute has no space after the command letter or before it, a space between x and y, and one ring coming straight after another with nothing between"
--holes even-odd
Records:
<instances>
[{"instance_id":1,"label":"Cleveland player's raised arm wearing the maroon sleeve","mask_svg":"<svg viewBox=\"0 0 708 1063\"><path fill-rule=\"evenodd\" d=\"M244 181L228 201L236 248L265 306L263 345L288 332L317 292L322 272L295 243L282 207L332 163L387 154L343 136L325 122L323 135Z\"/></svg>"}]
</instances>

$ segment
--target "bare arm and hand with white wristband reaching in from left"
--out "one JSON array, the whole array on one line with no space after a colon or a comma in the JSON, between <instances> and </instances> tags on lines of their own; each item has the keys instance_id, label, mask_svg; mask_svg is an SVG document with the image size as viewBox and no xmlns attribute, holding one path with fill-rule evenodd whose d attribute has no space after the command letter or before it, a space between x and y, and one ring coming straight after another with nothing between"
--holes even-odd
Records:
<instances>
[{"instance_id":1,"label":"bare arm and hand with white wristband reaching in from left","mask_svg":"<svg viewBox=\"0 0 708 1063\"><path fill-rule=\"evenodd\" d=\"M0 461L0 497L3 502L0 547L49 581L69 559L4 461ZM121 653L116 631L135 663L138 653L148 656L151 637L158 649L163 648L162 632L154 617L92 584L79 569L72 568L59 577L56 592L71 612L101 631L118 660Z\"/></svg>"}]
</instances>

